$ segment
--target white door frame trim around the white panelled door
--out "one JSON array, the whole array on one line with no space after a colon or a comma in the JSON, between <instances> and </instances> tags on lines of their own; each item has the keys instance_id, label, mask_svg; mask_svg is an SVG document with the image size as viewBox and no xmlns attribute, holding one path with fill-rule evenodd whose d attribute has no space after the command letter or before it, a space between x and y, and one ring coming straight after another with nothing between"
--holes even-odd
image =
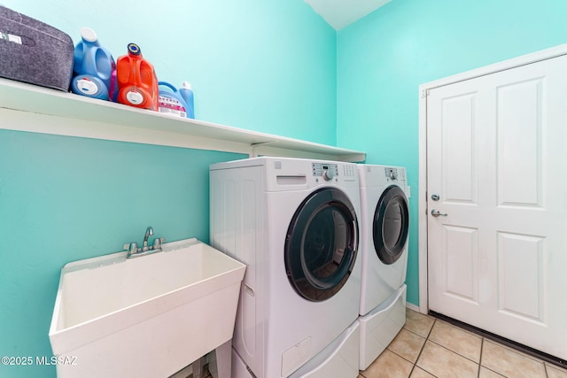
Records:
<instances>
[{"instance_id":1,"label":"white door frame trim around the white panelled door","mask_svg":"<svg viewBox=\"0 0 567 378\"><path fill-rule=\"evenodd\" d=\"M475 79L490 73L497 73L519 66L526 66L550 58L567 55L567 43L550 49L540 50L517 58L480 67L464 73L457 73L419 86L419 190L418 190L418 274L419 274L419 312L429 312L428 276L427 276L427 96L431 89L439 88L459 81Z\"/></svg>"}]
</instances>

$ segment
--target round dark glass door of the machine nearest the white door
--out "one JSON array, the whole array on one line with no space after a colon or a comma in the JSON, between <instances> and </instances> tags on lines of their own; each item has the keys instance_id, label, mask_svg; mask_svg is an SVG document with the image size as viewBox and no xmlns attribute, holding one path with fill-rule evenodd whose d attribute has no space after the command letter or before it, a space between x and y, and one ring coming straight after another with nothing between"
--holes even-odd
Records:
<instances>
[{"instance_id":1,"label":"round dark glass door of the machine nearest the white door","mask_svg":"<svg viewBox=\"0 0 567 378\"><path fill-rule=\"evenodd\" d=\"M408 198L399 186L384 190L376 206L372 229L378 258L386 265L393 264L408 242Z\"/></svg>"}]
</instances>

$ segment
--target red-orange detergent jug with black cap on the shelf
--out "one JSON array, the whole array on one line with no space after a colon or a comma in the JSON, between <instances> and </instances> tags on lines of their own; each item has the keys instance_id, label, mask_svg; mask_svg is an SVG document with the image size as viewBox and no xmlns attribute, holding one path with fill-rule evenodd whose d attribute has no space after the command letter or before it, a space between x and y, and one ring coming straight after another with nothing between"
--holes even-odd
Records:
<instances>
[{"instance_id":1,"label":"red-orange detergent jug with black cap on the shelf","mask_svg":"<svg viewBox=\"0 0 567 378\"><path fill-rule=\"evenodd\" d=\"M158 78L136 43L116 61L118 102L158 112Z\"/></svg>"}]
</instances>

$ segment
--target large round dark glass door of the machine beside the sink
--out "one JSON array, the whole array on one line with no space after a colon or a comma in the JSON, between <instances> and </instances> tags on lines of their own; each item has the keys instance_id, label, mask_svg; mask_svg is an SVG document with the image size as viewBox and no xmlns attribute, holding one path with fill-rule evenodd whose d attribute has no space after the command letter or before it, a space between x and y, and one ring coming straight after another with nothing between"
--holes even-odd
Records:
<instances>
[{"instance_id":1,"label":"large round dark glass door of the machine beside the sink","mask_svg":"<svg viewBox=\"0 0 567 378\"><path fill-rule=\"evenodd\" d=\"M301 297L323 301L345 285L358 252L358 220L346 194L323 188L307 197L291 219L285 270Z\"/></svg>"}]
</instances>

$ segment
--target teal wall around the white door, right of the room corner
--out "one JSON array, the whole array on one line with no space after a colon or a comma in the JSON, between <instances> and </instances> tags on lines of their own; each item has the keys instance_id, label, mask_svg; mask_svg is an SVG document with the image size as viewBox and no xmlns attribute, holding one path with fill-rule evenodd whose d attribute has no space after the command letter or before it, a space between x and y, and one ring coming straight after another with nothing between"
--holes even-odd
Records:
<instances>
[{"instance_id":1,"label":"teal wall around the white door, right of the room corner","mask_svg":"<svg viewBox=\"0 0 567 378\"><path fill-rule=\"evenodd\" d=\"M408 302L418 305L418 87L567 42L567 2L392 0L338 32L338 144L408 167Z\"/></svg>"}]
</instances>

